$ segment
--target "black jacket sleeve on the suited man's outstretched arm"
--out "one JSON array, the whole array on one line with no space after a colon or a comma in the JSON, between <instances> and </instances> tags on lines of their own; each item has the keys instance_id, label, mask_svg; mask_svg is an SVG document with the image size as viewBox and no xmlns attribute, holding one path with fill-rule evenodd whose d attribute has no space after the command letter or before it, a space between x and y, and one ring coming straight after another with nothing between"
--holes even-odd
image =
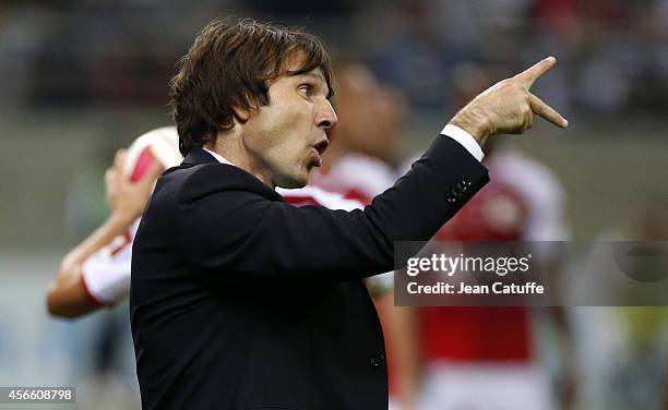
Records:
<instances>
[{"instance_id":1,"label":"black jacket sleeve on the suited man's outstretched arm","mask_svg":"<svg viewBox=\"0 0 668 410\"><path fill-rule=\"evenodd\" d=\"M243 184L199 191L222 167L184 183L175 219L190 262L225 275L347 280L393 269L395 241L426 241L489 178L464 147L438 137L391 189L363 210L296 207Z\"/></svg>"}]
</instances>

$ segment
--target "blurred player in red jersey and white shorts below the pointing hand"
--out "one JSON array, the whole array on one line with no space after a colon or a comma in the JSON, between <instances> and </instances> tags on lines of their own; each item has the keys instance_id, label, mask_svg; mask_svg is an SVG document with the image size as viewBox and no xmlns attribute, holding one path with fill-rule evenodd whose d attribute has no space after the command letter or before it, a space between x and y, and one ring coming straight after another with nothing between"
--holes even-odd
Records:
<instances>
[{"instance_id":1,"label":"blurred player in red jersey and white shorts below the pointing hand","mask_svg":"<svg viewBox=\"0 0 668 410\"><path fill-rule=\"evenodd\" d=\"M489 83L486 72L466 67L456 83L465 104ZM436 236L443 241L559 241L566 239L563 193L545 166L517 148L493 142L485 166L491 181ZM541 264L554 263L550 251ZM553 268L553 266L552 266ZM546 312L541 310L541 312ZM553 409L549 374L537 363L532 311L523 306L442 306L417 310L424 360L425 410ZM562 310L554 324L570 357ZM565 364L564 405L572 401L572 363Z\"/></svg>"}]
</instances>

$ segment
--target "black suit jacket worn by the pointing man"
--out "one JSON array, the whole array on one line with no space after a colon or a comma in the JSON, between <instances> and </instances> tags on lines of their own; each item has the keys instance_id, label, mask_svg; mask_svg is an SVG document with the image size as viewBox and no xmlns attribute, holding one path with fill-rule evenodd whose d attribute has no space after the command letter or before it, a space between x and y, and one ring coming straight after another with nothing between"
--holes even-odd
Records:
<instances>
[{"instance_id":1,"label":"black suit jacket worn by the pointing man","mask_svg":"<svg viewBox=\"0 0 668 410\"><path fill-rule=\"evenodd\" d=\"M193 148L158 179L132 253L144 409L386 409L380 322L361 279L428 240L488 181L439 136L363 210L295 207Z\"/></svg>"}]
</instances>

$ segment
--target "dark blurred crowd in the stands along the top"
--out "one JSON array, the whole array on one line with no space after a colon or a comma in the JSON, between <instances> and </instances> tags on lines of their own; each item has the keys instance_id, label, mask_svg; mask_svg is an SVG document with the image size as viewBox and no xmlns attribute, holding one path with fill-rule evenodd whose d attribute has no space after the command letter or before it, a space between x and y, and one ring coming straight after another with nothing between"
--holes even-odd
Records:
<instances>
[{"instance_id":1,"label":"dark blurred crowd in the stands along the top","mask_svg":"<svg viewBox=\"0 0 668 410\"><path fill-rule=\"evenodd\" d=\"M476 65L503 77L545 50L561 70L537 92L566 114L660 116L668 104L666 0L3 1L0 75L12 81L0 101L164 105L193 33L228 14L306 26L420 110L456 108L451 84Z\"/></svg>"}]
</instances>

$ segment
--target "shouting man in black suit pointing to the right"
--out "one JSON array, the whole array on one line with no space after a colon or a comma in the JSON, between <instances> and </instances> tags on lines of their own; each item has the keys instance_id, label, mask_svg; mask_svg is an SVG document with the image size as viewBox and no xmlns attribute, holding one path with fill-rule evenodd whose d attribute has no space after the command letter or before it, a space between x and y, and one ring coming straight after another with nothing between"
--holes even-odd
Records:
<instances>
[{"instance_id":1,"label":"shouting man in black suit pointing to the right","mask_svg":"<svg viewBox=\"0 0 668 410\"><path fill-rule=\"evenodd\" d=\"M428 240L487 181L488 135L523 132L553 58L460 111L363 210L295 207L321 164L329 57L306 33L214 21L170 93L183 162L163 174L133 249L131 319L145 409L385 409L382 330L361 279Z\"/></svg>"}]
</instances>

